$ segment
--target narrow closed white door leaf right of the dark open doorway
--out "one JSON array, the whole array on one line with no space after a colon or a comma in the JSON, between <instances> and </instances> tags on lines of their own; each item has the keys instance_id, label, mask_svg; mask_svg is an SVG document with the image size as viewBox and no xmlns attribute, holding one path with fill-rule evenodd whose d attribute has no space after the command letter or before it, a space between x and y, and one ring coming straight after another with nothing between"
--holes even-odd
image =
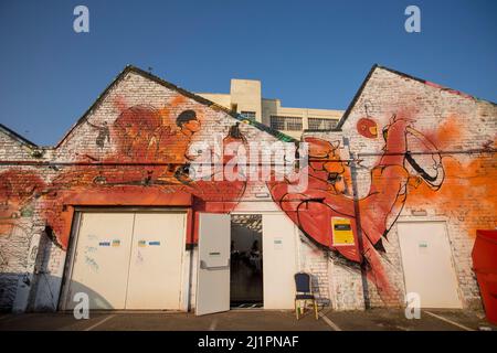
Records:
<instances>
[{"instance_id":1,"label":"narrow closed white door leaf right of the dark open doorway","mask_svg":"<svg viewBox=\"0 0 497 353\"><path fill-rule=\"evenodd\" d=\"M295 224L286 215L263 215L264 309L294 308L295 237Z\"/></svg>"}]
</instances>

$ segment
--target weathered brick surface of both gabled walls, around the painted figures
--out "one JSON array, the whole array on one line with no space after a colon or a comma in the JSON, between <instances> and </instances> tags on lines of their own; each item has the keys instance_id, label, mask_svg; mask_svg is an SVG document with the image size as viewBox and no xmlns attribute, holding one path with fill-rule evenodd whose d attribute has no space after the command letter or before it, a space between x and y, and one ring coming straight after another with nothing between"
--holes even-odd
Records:
<instances>
[{"instance_id":1,"label":"weathered brick surface of both gabled walls, around the painted figures","mask_svg":"<svg viewBox=\"0 0 497 353\"><path fill-rule=\"evenodd\" d=\"M41 157L34 157L33 149L0 133L0 159L3 161L70 163L0 165L0 191L4 197L2 203L6 206L12 205L12 212L10 208L6 211L8 220L0 224L0 309L56 309L66 252L50 238L53 236L50 229L45 232L46 216L47 210L53 210L52 213L49 212L49 216L56 228L57 224L62 227L61 224L66 222L65 215L70 212L62 204L53 204L53 200L57 200L57 193L64 193L74 186L91 185L98 173L105 174L107 180L126 181L129 174L137 180L144 180L149 171L157 171L145 167L106 165L88 172L87 167L71 164L104 161L118 152L116 141L123 140L124 136L110 129L110 141L104 138L104 143L97 143L102 129L96 127L110 127L123 106L136 105L165 109L165 116L178 116L186 109L195 110L202 120L202 129L193 136L191 142L212 141L216 135L224 138L236 122L225 111L200 104L142 75L129 72L88 114L86 121L89 124L83 121L77 125L60 146L44 149ZM412 126L417 131L433 140L438 150L447 152L443 157L446 175L442 188L436 192L427 191L423 186L410 190L398 222L446 223L459 296L465 307L479 307L470 250L476 228L494 228L497 225L495 153L482 152L485 148L496 148L497 108L486 101L377 68L349 111L342 130L313 133L329 141L340 141L342 159L355 157L360 160L357 178L359 197L366 196L370 190L370 171L379 162L384 146L381 130L394 115L413 119ZM362 117L369 117L377 122L377 138L368 139L358 132L357 122ZM241 124L240 130L247 141L277 141L274 136L251 125ZM343 138L348 139L348 145ZM171 154L182 153L181 148L175 148L171 147ZM480 152L473 153L473 150ZM453 153L450 153L451 151ZM374 156L364 156L367 153ZM136 162L144 158L142 154L136 153L126 156L123 160ZM15 178L4 176L4 172L12 170L17 173ZM33 180L29 174L39 175L45 185L56 182L56 190L47 190L46 186L31 188ZM64 174L64 179L57 181L61 174ZM124 192L127 188L129 189L119 186L119 190ZM165 190L169 188L172 192L172 186L165 186ZM207 192L205 196L216 196L214 191L210 193ZM243 201L271 200L261 196L264 194L269 195L264 182L251 182L246 186ZM19 205L20 211L15 205ZM256 210L254 206L251 208ZM420 211L425 215L415 216ZM393 297L403 297L404 277L395 225L389 232L388 242L383 244L385 253L382 255L382 264L394 288ZM302 236L299 254L300 269L313 275L313 288L321 303L330 303L337 310L361 309L364 308L366 291L366 297L373 307L398 304L393 297L380 297L372 282L364 287L360 266L336 252L324 250ZM194 284L193 279L192 302Z\"/></svg>"}]
</instances>

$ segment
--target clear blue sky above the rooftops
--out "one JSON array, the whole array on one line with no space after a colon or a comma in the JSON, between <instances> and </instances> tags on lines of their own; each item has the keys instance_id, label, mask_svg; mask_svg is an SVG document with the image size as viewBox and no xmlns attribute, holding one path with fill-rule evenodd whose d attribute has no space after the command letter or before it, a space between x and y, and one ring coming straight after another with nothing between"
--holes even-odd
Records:
<instances>
[{"instance_id":1,"label":"clear blue sky above the rooftops","mask_svg":"<svg viewBox=\"0 0 497 353\"><path fill-rule=\"evenodd\" d=\"M89 33L73 9L89 9ZM404 9L421 8L421 33ZM0 122L54 145L127 64L192 92L263 82L345 109L374 63L497 101L497 1L0 0Z\"/></svg>"}]
</instances>

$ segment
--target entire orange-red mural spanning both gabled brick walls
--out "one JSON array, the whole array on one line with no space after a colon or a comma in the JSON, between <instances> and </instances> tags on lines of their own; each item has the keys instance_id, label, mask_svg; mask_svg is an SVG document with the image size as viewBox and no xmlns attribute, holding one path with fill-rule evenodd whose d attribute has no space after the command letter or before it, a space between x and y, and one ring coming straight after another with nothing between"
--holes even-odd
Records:
<instances>
[{"instance_id":1,"label":"entire orange-red mural spanning both gabled brick walls","mask_svg":"<svg viewBox=\"0 0 497 353\"><path fill-rule=\"evenodd\" d=\"M34 169L2 172L0 234L11 232L18 215L34 200L46 221L47 234L63 249L68 246L74 206L182 206L191 210L187 244L194 244L194 213L233 211L247 182L214 178L220 172L215 170L205 180L191 178L197 157L189 153L189 148L207 124L202 108L183 104L180 96L165 107L128 107L123 99L116 99L119 113L112 124L86 121L95 133L97 150L114 147L103 158L89 158L88 162L85 152L91 152L81 151L86 157L57 169L50 182L44 182ZM288 180L266 184L274 202L304 234L326 249L367 265L368 277L379 293L392 297L394 290L380 253L406 204L435 207L455 218L464 208L465 217L458 222L472 235L478 227L478 207L462 205L478 200L482 207L495 214L495 159L443 153L454 139L464 138L458 119L450 116L438 128L423 132L415 129L415 121L405 111L394 115L382 130L374 118L360 119L356 125L359 135L384 140L382 153L369 171L369 191L361 199L353 196L357 181L351 164L360 161L342 160L339 141L318 138L305 139L309 146L309 162L300 169L308 178L305 191L288 192L293 184ZM229 128L223 142L248 149L239 122ZM222 164L231 158L223 153Z\"/></svg>"}]
</instances>

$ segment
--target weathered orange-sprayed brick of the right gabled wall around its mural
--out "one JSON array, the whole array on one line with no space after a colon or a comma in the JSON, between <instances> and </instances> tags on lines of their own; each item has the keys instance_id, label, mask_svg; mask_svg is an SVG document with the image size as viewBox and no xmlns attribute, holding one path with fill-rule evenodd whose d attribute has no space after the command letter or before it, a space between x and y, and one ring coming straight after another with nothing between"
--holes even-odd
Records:
<instances>
[{"instance_id":1,"label":"weathered orange-sprayed brick of the right gabled wall around its mural","mask_svg":"<svg viewBox=\"0 0 497 353\"><path fill-rule=\"evenodd\" d=\"M384 139L381 130L394 116L411 119L413 128L427 137L438 151L446 152L442 158L445 167L442 188L436 192L426 192L423 188L410 190L398 222L446 223L463 306L480 308L470 252L477 228L493 229L497 226L495 184L497 106L389 69L376 68L351 108L341 133L313 135L330 141L340 140L341 137L349 139L349 151L361 160L357 179L359 197L368 195L371 184L370 171L383 153ZM358 120L364 117L377 122L378 138L368 139L358 132ZM348 148L343 147L343 143L341 148L342 158L348 158ZM416 152L416 148L419 146L411 152ZM494 152L490 151L491 148ZM487 152L483 151L485 149ZM474 150L479 152L472 152ZM376 156L364 156L371 153ZM420 214L419 211L425 215L415 216L414 214ZM387 250L383 266L391 282L394 284L395 295L403 297L404 278L395 225L389 232L388 242L383 244ZM330 277L340 276L337 267L331 267ZM353 288L339 292L343 286L340 286L341 280L338 282L331 287L331 296L338 302L340 297L359 295ZM387 302L384 298L380 299L371 282L368 285L368 291L373 307L395 304L393 298L391 301L387 299Z\"/></svg>"}]
</instances>

